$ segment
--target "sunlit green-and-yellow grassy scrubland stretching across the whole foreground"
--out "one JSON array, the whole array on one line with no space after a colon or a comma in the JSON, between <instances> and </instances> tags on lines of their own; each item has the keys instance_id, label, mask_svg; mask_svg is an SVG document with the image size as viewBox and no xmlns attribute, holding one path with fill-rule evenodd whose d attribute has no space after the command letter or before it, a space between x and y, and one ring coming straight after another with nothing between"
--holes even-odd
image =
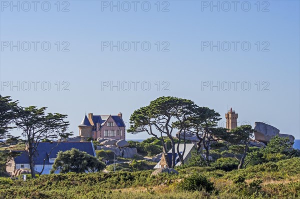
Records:
<instances>
[{"instance_id":1,"label":"sunlit green-and-yellow grassy scrubland stretching across the whole foreground","mask_svg":"<svg viewBox=\"0 0 300 199\"><path fill-rule=\"evenodd\" d=\"M300 158L225 172L178 168L178 175L150 176L152 170L41 175L26 182L0 179L0 199L299 199ZM214 190L184 191L179 185L203 176ZM205 185L204 185L205 186Z\"/></svg>"}]
</instances>

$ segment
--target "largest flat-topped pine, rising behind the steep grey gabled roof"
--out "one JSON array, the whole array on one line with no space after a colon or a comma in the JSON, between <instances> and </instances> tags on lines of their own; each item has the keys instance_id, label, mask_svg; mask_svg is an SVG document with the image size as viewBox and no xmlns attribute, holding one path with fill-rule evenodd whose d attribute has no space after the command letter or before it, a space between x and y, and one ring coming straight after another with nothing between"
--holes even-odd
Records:
<instances>
[{"instance_id":1,"label":"largest flat-topped pine, rising behind the steep grey gabled roof","mask_svg":"<svg viewBox=\"0 0 300 199\"><path fill-rule=\"evenodd\" d=\"M147 132L162 141L163 149L166 152L163 136L171 141L172 168L175 167L175 140L173 132L178 127L179 118L184 124L184 114L187 109L194 106L194 103L187 99L177 97L159 97L150 102L148 106L135 110L130 116L129 133L137 134ZM184 129L183 126L180 128ZM158 134L158 135L157 135ZM160 136L159 136L160 135Z\"/></svg>"}]
</instances>

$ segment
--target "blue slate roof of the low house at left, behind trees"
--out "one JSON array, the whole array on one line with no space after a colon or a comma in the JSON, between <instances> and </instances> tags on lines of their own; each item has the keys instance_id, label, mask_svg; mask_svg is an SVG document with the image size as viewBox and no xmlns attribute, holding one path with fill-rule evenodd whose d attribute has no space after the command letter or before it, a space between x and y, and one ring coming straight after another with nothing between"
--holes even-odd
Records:
<instances>
[{"instance_id":1,"label":"blue slate roof of the low house at left, behind trees","mask_svg":"<svg viewBox=\"0 0 300 199\"><path fill-rule=\"evenodd\" d=\"M53 149L52 149L53 148ZM51 165L49 158L56 158L59 151L68 151L72 148L78 149L79 151L86 152L88 155L95 156L93 144L91 142L40 142L36 148L35 156L33 157L35 165L42 165L43 160L50 153L50 156L45 160L45 165ZM52 151L51 151L52 149ZM16 151L18 152L18 151ZM22 154L14 161L16 164L29 164L29 157L27 151L21 151Z\"/></svg>"}]
</instances>

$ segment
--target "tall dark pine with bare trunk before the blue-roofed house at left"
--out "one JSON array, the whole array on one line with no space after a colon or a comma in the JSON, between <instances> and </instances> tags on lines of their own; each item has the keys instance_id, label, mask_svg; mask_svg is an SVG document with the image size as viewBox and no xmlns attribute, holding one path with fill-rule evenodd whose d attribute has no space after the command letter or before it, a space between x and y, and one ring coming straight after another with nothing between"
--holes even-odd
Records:
<instances>
[{"instance_id":1,"label":"tall dark pine with bare trunk before the blue-roofed house at left","mask_svg":"<svg viewBox=\"0 0 300 199\"><path fill-rule=\"evenodd\" d=\"M45 114L45 110L46 107L18 107L18 118L14 119L15 125L22 130L21 135L26 139L32 178L35 178L33 159L39 142L66 137L69 134L66 132L69 122L64 121L67 115Z\"/></svg>"}]
</instances>

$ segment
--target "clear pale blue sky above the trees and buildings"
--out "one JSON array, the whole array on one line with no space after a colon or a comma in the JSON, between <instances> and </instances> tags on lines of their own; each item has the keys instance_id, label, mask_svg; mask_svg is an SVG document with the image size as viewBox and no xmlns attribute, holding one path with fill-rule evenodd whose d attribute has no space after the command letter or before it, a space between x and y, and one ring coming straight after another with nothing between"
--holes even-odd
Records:
<instances>
[{"instance_id":1,"label":"clear pale blue sky above the trees and buildings","mask_svg":"<svg viewBox=\"0 0 300 199\"><path fill-rule=\"evenodd\" d=\"M281 133L300 138L298 0L259 1L259 7L256 0L238 1L236 11L233 3L228 8L224 1L213 1L219 3L219 11L211 6L211 1L197 0L159 1L159 11L156 0L138 1L136 11L132 1L127 1L131 6L128 11L124 11L128 3L123 1L119 1L120 11L110 7L111 1L100 0L60 1L60 11L56 0L49 1L49 11L44 11L48 9L44 1L38 1L36 11L33 3L29 8L23 1L13 2L19 2L20 11L10 0L0 2L1 95L12 96L22 106L46 106L49 112L67 114L75 135L85 112L122 112L128 121L135 109L151 100L176 96L215 109L222 122L227 107L232 107L239 114L239 124L249 121L254 126L255 121L267 121ZM151 8L145 11L148 4ZM63 8L69 11L61 11ZM16 45L12 49L11 41ZM28 51L26 41L31 43ZM47 42L41 49L43 41L51 44L48 51L44 51ZM106 41L120 41L120 51L117 47L112 51L103 47ZM121 46L123 41L131 43L129 51L125 51L127 42ZM136 51L132 41L139 42ZM142 49L143 41L147 42ZM159 51L156 41L160 43ZM220 50L205 47L210 41L220 41ZM151 48L145 51L147 43ZM228 43L231 48L225 51ZM248 43L251 48L246 51ZM66 45L69 51L62 51ZM165 46L168 51L162 51ZM11 81L16 85L19 81L20 85L11 88ZM36 91L32 81L39 81ZM44 91L47 82L41 89L41 82L45 81L51 85L49 91ZM62 84L63 81L68 83ZM117 87L111 91L109 86L101 89L103 81L120 81L120 91ZM125 81L131 82L128 91ZM132 81L140 81L136 91ZM144 81L150 83L149 91L145 91L147 82L141 88ZM218 81L219 86L210 88L211 83ZM239 81L236 90L232 81ZM208 87L203 87L207 82ZM246 91L248 84L251 88ZM69 91L61 91L66 85ZM162 91L164 86L168 91ZM127 134L127 139L146 137Z\"/></svg>"}]
</instances>

